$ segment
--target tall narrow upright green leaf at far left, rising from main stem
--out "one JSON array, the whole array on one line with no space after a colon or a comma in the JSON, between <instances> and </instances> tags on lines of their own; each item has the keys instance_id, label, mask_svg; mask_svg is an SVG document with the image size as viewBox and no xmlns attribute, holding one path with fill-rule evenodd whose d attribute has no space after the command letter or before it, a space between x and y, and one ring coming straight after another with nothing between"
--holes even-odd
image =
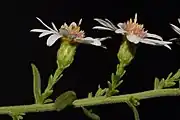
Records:
<instances>
[{"instance_id":1,"label":"tall narrow upright green leaf at far left, rising from main stem","mask_svg":"<svg viewBox=\"0 0 180 120\"><path fill-rule=\"evenodd\" d=\"M41 78L37 67L31 64L33 71L33 92L36 103L41 103Z\"/></svg>"}]
</instances>

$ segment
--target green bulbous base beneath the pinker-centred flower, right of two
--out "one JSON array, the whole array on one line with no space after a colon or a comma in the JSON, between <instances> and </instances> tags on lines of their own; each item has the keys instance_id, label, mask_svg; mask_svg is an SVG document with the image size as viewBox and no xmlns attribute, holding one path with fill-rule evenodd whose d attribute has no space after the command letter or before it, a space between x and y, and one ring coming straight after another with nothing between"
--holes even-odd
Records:
<instances>
[{"instance_id":1,"label":"green bulbous base beneath the pinker-centred flower, right of two","mask_svg":"<svg viewBox=\"0 0 180 120\"><path fill-rule=\"evenodd\" d=\"M135 53L136 53L136 46L133 43L130 43L127 40L127 38L124 36L123 42L117 54L118 59L122 65L121 67L127 66L131 62L131 60L134 58Z\"/></svg>"}]
</instances>

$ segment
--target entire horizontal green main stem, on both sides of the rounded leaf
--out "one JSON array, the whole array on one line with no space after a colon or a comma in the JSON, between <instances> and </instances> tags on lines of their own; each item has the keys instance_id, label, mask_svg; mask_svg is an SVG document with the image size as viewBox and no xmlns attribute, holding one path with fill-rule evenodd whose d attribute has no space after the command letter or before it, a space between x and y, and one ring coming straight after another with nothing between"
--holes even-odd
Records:
<instances>
[{"instance_id":1,"label":"entire horizontal green main stem, on both sides of the rounded leaf","mask_svg":"<svg viewBox=\"0 0 180 120\"><path fill-rule=\"evenodd\" d=\"M94 98L84 98L84 99L75 100L73 102L73 106L82 107L82 106L94 106L101 104L123 103L129 101L130 97L143 100L143 99L150 99L150 98L163 97L163 96L180 96L180 89L178 88L159 89L159 90L149 90L145 92L111 96L111 97L100 96ZM56 108L54 106L54 103L32 104L32 105L0 107L0 114L10 114L12 112L19 112L19 113L45 112L45 111L55 111L55 110Z\"/></svg>"}]
</instances>

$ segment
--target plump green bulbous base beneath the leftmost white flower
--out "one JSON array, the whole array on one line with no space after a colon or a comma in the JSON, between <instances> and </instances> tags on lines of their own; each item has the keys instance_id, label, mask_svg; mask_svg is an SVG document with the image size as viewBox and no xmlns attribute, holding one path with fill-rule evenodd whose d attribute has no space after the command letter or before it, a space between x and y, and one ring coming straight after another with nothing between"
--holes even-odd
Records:
<instances>
[{"instance_id":1,"label":"plump green bulbous base beneath the leftmost white flower","mask_svg":"<svg viewBox=\"0 0 180 120\"><path fill-rule=\"evenodd\" d=\"M77 45L64 40L57 52L57 62L61 68L67 68L74 60Z\"/></svg>"}]
</instances>

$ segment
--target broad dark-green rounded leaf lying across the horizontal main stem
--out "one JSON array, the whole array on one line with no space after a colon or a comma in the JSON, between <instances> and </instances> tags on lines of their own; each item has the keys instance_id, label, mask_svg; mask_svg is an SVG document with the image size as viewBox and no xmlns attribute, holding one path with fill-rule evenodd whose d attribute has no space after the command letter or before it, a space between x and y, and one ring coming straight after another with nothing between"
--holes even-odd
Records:
<instances>
[{"instance_id":1,"label":"broad dark-green rounded leaf lying across the horizontal main stem","mask_svg":"<svg viewBox=\"0 0 180 120\"><path fill-rule=\"evenodd\" d=\"M76 93L74 91L67 91L62 93L55 100L55 108L57 111L63 110L65 107L72 105L73 101L76 99Z\"/></svg>"}]
</instances>

